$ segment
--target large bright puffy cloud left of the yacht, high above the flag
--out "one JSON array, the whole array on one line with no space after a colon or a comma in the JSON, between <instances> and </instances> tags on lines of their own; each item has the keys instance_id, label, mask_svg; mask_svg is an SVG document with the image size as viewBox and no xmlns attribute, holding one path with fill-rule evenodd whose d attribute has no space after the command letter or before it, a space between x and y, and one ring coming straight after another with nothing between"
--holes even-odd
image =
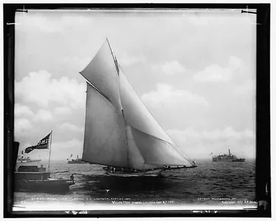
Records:
<instances>
[{"instance_id":1,"label":"large bright puffy cloud left of the yacht, high above the flag","mask_svg":"<svg viewBox=\"0 0 276 221\"><path fill-rule=\"evenodd\" d=\"M76 79L68 77L51 78L46 70L32 72L15 82L14 91L15 96L21 97L24 102L34 102L39 106L56 102L79 108L85 104L85 84L79 84Z\"/></svg>"}]
</instances>

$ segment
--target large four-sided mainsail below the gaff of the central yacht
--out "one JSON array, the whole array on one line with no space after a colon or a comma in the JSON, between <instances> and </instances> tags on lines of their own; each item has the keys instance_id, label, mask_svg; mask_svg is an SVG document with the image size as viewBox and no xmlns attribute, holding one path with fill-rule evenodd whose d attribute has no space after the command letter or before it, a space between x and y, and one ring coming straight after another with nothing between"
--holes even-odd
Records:
<instances>
[{"instance_id":1,"label":"large four-sided mainsail below the gaff of the central yacht","mask_svg":"<svg viewBox=\"0 0 276 221\"><path fill-rule=\"evenodd\" d=\"M82 160L110 166L128 166L123 116L106 97L87 84L86 123Z\"/></svg>"}]
</instances>

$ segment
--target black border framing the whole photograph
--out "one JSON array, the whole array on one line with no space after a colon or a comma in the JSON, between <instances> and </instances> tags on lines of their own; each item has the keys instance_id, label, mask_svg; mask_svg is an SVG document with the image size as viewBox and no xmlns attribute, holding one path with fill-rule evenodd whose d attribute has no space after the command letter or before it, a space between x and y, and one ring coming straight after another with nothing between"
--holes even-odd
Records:
<instances>
[{"instance_id":1,"label":"black border framing the whole photograph","mask_svg":"<svg viewBox=\"0 0 276 221\"><path fill-rule=\"evenodd\" d=\"M256 201L257 210L221 210L217 213L193 211L88 211L88 214L66 214L63 211L12 212L14 159L14 16L28 9L225 9L241 12L257 9L256 66ZM244 12L246 13L246 12ZM253 12L254 13L254 12ZM3 4L3 215L4 218L66 218L66 217L271 217L270 197L270 3L26 3ZM16 148L17 147L17 148ZM16 161L16 160L15 160ZM266 190L268 192L266 192ZM264 209L264 202L268 203Z\"/></svg>"}]
</instances>

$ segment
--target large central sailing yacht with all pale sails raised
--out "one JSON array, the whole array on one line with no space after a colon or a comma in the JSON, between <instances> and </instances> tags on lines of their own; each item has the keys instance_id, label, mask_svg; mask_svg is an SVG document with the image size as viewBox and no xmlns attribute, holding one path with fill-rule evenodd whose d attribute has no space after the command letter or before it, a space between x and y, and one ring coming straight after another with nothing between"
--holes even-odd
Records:
<instances>
[{"instance_id":1,"label":"large central sailing yacht with all pale sails raised","mask_svg":"<svg viewBox=\"0 0 276 221\"><path fill-rule=\"evenodd\" d=\"M141 102L108 39L80 74L88 81L81 160L118 176L195 167Z\"/></svg>"}]
</instances>

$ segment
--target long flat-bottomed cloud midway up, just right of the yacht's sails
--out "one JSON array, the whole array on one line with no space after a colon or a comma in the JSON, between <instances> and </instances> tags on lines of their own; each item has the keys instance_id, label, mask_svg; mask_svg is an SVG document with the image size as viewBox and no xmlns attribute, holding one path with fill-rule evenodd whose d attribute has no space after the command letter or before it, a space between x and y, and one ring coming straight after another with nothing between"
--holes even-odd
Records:
<instances>
[{"instance_id":1,"label":"long flat-bottomed cloud midway up, just right of the yacht's sails","mask_svg":"<svg viewBox=\"0 0 276 221\"><path fill-rule=\"evenodd\" d=\"M148 104L181 104L194 103L208 106L204 97L190 93L188 90L173 90L169 84L157 84L157 90L150 91L141 96Z\"/></svg>"}]
</instances>

